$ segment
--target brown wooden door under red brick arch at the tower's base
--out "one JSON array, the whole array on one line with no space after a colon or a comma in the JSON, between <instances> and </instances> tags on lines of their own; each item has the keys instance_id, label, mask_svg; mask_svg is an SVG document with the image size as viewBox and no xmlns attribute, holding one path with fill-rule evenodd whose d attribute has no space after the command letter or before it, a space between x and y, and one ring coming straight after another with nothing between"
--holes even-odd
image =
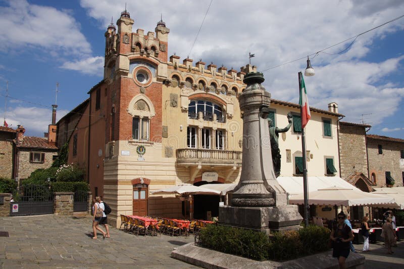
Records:
<instances>
[{"instance_id":1,"label":"brown wooden door under red brick arch at the tower's base","mask_svg":"<svg viewBox=\"0 0 404 269\"><path fill-rule=\"evenodd\" d=\"M147 178L135 178L132 180L133 195L132 195L132 211L133 215L147 215L148 205L148 185L150 180Z\"/></svg>"}]
</instances>

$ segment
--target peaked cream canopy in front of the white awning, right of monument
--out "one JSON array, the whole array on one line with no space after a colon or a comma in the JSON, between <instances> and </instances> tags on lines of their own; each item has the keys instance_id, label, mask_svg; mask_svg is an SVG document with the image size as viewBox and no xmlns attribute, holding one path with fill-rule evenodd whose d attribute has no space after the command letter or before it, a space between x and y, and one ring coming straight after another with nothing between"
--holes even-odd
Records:
<instances>
[{"instance_id":1,"label":"peaked cream canopy in front of the white awning, right of monument","mask_svg":"<svg viewBox=\"0 0 404 269\"><path fill-rule=\"evenodd\" d=\"M331 187L309 192L309 204L357 206L394 203L394 198L389 196L366 193L354 188L355 187L351 185L349 188ZM289 203L304 204L304 195L291 195L289 197Z\"/></svg>"}]
</instances>

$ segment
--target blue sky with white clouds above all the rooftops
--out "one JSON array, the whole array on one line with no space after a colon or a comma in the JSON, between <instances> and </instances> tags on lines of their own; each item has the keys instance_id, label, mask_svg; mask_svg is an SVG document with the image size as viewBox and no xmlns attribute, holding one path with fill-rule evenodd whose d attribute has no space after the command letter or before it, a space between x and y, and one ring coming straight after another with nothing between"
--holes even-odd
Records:
<instances>
[{"instance_id":1,"label":"blue sky with white clouds above all the rooftops","mask_svg":"<svg viewBox=\"0 0 404 269\"><path fill-rule=\"evenodd\" d=\"M87 99L103 79L104 33L125 3L134 32L154 32L162 16L168 54L180 61L239 71L254 54L251 64L274 99L298 103L297 72L310 56L310 106L336 102L342 121L404 139L404 18L366 32L404 15L402 0L0 0L1 122L6 116L9 127L42 137L52 104L59 120Z\"/></svg>"}]
</instances>

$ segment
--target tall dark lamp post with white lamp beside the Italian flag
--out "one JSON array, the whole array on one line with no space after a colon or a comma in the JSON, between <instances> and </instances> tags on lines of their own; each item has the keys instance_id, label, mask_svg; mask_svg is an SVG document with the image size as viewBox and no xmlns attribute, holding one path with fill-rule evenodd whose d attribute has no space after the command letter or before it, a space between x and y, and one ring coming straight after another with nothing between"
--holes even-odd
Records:
<instances>
[{"instance_id":1,"label":"tall dark lamp post with white lamp beside the Italian flag","mask_svg":"<svg viewBox=\"0 0 404 269\"><path fill-rule=\"evenodd\" d=\"M307 67L305 70L305 76L314 76L316 73L312 65L310 64L309 56L307 57ZM299 80L299 93L301 91L301 72L297 73ZM301 93L300 93L301 94ZM303 106L300 106L300 121L303 115ZM306 157L306 136L305 136L305 128L301 126L301 151L302 151L302 159L303 159L303 196L304 196L304 216L306 227L309 226L309 195L308 195L308 182L307 182L307 157Z\"/></svg>"}]
</instances>

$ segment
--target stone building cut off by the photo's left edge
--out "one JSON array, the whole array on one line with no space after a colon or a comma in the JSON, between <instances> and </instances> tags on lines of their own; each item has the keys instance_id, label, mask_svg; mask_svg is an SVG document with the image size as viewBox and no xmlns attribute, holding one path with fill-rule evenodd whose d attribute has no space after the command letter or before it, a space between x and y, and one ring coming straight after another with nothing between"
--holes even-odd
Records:
<instances>
[{"instance_id":1,"label":"stone building cut off by the photo's left edge","mask_svg":"<svg viewBox=\"0 0 404 269\"><path fill-rule=\"evenodd\" d=\"M15 129L0 126L0 177L13 177L16 134Z\"/></svg>"}]
</instances>

